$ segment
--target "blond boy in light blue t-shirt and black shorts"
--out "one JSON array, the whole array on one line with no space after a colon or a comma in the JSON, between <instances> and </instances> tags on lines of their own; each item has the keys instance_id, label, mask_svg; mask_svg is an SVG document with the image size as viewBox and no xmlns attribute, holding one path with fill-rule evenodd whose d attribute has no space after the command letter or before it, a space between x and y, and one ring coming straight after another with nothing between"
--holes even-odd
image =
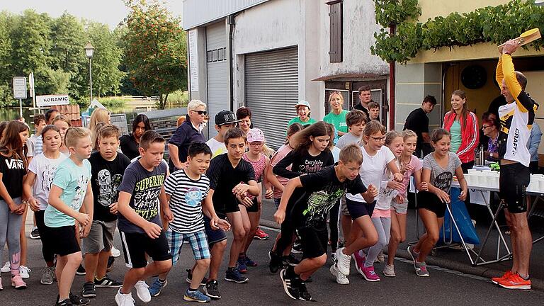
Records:
<instances>
[{"instance_id":1,"label":"blond boy in light blue t-shirt and black shorts","mask_svg":"<svg viewBox=\"0 0 544 306\"><path fill-rule=\"evenodd\" d=\"M70 157L55 172L45 209L44 222L52 239L52 251L57 254L59 296L56 305L87 305L89 300L70 293L76 270L81 263L77 236L86 237L93 220L93 191L91 189L91 131L69 128L64 136ZM81 205L84 205L80 212ZM81 226L76 233L75 220Z\"/></svg>"}]
</instances>

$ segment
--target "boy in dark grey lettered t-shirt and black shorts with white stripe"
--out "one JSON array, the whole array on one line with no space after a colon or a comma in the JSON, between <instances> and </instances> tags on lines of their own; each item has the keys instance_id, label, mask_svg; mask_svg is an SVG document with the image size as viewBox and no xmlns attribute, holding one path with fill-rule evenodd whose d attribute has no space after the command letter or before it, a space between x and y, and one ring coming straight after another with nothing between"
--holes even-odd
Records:
<instances>
[{"instance_id":1,"label":"boy in dark grey lettered t-shirt and black shorts with white stripe","mask_svg":"<svg viewBox=\"0 0 544 306\"><path fill-rule=\"evenodd\" d=\"M162 162L164 138L154 130L147 130L140 138L140 159L125 170L118 188L118 227L123 243L125 273L123 287L115 295L118 306L132 306L132 288L142 302L150 302L151 294L145 279L170 270L172 256L161 227L159 195L168 173ZM147 263L147 256L153 259ZM166 279L157 278L164 287Z\"/></svg>"}]
</instances>

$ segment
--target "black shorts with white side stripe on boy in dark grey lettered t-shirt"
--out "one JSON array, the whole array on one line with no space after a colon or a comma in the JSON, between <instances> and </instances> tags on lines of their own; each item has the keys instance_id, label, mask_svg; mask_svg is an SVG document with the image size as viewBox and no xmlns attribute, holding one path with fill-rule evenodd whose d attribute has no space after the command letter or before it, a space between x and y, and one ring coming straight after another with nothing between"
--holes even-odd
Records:
<instances>
[{"instance_id":1,"label":"black shorts with white side stripe on boy in dark grey lettered t-shirt","mask_svg":"<svg viewBox=\"0 0 544 306\"><path fill-rule=\"evenodd\" d=\"M172 259L170 246L166 241L164 231L157 239L152 239L145 233L120 232L121 244L123 244L123 253L125 254L125 263L128 268L145 268L147 259L145 254L149 255L153 261L167 261Z\"/></svg>"}]
</instances>

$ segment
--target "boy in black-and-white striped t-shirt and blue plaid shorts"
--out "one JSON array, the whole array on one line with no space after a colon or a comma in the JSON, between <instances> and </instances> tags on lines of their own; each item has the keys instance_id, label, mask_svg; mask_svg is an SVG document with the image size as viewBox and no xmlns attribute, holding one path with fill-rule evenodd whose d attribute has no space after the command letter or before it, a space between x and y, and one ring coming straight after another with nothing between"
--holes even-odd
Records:
<instances>
[{"instance_id":1,"label":"boy in black-and-white striped t-shirt and blue plaid shorts","mask_svg":"<svg viewBox=\"0 0 544 306\"><path fill-rule=\"evenodd\" d=\"M210 266L210 249L208 249L208 239L205 234L204 214L210 217L210 225L213 229L221 227L227 230L230 227L227 221L217 217L213 205L202 204L210 191L210 180L205 176L205 172L210 166L211 158L212 152L208 145L193 142L188 149L188 167L174 172L164 181L164 192L169 205L163 208L163 214L169 221L166 239L173 256L172 264L179 261L183 242L189 243L196 260L191 285L183 295L183 300L186 301L210 301L210 297L198 290ZM168 272L159 275L157 280L166 280L167 274Z\"/></svg>"}]
</instances>

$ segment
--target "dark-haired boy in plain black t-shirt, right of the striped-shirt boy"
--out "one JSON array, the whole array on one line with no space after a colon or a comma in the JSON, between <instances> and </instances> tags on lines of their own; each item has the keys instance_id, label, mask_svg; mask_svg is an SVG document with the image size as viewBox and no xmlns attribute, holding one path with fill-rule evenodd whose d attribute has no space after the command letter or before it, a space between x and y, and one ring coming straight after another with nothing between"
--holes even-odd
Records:
<instances>
[{"instance_id":1,"label":"dark-haired boy in plain black t-shirt, right of the striped-shirt boy","mask_svg":"<svg viewBox=\"0 0 544 306\"><path fill-rule=\"evenodd\" d=\"M227 153L212 159L206 173L210 179L210 193L206 201L211 199L217 215L226 216L232 225L233 240L225 280L246 283L249 279L242 276L235 268L240 251L244 249L243 242L246 235L238 205L247 192L258 196L260 190L255 181L253 166L242 159L242 154L246 152L244 132L239 128L228 130L225 134L225 146L227 146ZM221 263L217 258L214 260L214 256L216 254L212 252L210 278L213 278L214 274L217 275Z\"/></svg>"}]
</instances>

